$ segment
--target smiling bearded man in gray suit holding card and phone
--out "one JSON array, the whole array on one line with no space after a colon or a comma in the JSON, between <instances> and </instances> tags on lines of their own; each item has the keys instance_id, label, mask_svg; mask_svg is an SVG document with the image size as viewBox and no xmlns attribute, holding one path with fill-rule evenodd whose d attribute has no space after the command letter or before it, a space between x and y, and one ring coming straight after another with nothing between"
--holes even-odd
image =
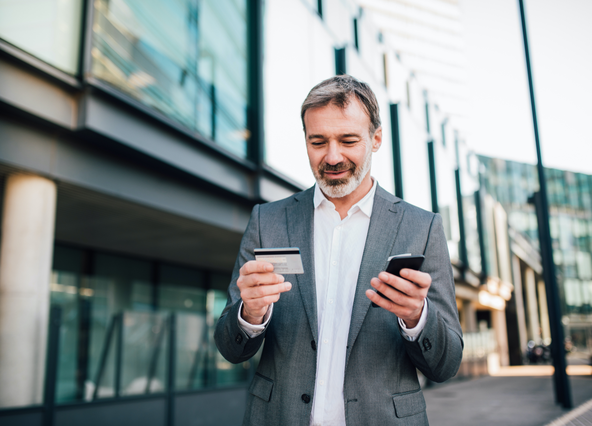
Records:
<instances>
[{"instance_id":1,"label":"smiling bearded man in gray suit holding card and phone","mask_svg":"<svg viewBox=\"0 0 592 426\"><path fill-rule=\"evenodd\" d=\"M265 338L243 424L427 425L416 368L442 382L462 357L442 218L371 177L382 128L366 83L325 80L301 111L317 183L253 208L215 330L232 363ZM274 247L299 247L304 274L254 260ZM382 272L406 253L425 256L420 271Z\"/></svg>"}]
</instances>

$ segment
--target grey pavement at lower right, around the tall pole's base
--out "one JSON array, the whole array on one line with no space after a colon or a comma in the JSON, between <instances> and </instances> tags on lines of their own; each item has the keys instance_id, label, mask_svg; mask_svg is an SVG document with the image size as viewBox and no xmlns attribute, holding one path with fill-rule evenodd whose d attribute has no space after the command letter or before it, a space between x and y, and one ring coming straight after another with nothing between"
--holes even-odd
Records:
<instances>
[{"instance_id":1,"label":"grey pavement at lower right, around the tall pole's base","mask_svg":"<svg viewBox=\"0 0 592 426\"><path fill-rule=\"evenodd\" d=\"M592 399L592 376L570 376L574 407ZM567 413L551 377L481 377L424 389L430 426L543 426Z\"/></svg>"}]
</instances>

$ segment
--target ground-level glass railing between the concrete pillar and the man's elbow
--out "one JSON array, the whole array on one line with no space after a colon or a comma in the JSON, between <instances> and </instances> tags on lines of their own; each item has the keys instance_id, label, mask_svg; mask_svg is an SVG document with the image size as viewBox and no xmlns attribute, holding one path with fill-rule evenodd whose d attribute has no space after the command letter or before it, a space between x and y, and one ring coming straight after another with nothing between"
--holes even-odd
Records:
<instances>
[{"instance_id":1,"label":"ground-level glass railing between the concrete pillar and the man's elbow","mask_svg":"<svg viewBox=\"0 0 592 426\"><path fill-rule=\"evenodd\" d=\"M86 360L88 378L80 392L81 357L72 357L72 347L81 347L72 337L80 321L67 306L59 310L58 403L241 385L259 359L258 354L250 362L227 362L215 347L214 315L123 311L101 330L100 350L88 354L94 359Z\"/></svg>"}]
</instances>

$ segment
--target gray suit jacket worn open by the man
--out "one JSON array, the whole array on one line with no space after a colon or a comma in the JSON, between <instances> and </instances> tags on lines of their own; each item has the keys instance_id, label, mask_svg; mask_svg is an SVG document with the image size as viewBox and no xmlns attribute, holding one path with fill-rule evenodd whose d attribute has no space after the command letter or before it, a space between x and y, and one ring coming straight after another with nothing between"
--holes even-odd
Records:
<instances>
[{"instance_id":1,"label":"gray suit jacket worn open by the man","mask_svg":"<svg viewBox=\"0 0 592 426\"><path fill-rule=\"evenodd\" d=\"M240 245L228 289L228 302L215 329L220 353L244 362L265 345L249 387L243 425L308 426L317 363L317 297L313 251L314 187L281 201L256 205ZM263 333L250 338L237 320L240 267L260 247L300 247L304 274L274 305ZM422 271L432 276L427 323L408 341L397 317L371 308L365 295L370 280L395 254L424 254ZM349 328L343 398L348 426L427 425L426 402L416 367L442 382L456 374L462 357L462 331L442 217L407 204L380 186L363 251ZM307 398L308 396L308 398ZM310 398L310 399L309 399Z\"/></svg>"}]
</instances>

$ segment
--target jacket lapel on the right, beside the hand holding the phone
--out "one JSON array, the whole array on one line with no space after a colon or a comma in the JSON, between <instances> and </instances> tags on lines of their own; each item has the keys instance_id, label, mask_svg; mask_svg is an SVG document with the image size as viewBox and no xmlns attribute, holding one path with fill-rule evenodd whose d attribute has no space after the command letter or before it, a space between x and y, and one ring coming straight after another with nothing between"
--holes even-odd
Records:
<instances>
[{"instance_id":1,"label":"jacket lapel on the right, beside the hand holding the phone","mask_svg":"<svg viewBox=\"0 0 592 426\"><path fill-rule=\"evenodd\" d=\"M388 193L380 186L374 195L374 205L366 236L366 244L362 255L362 264L358 274L356 295L353 298L352 321L349 325L348 346L351 347L358 337L362 322L370 306L370 299L366 297L366 290L372 289L370 280L378 276L387 266L392 246L403 218L403 206L397 205L400 198ZM350 351L346 358L346 366Z\"/></svg>"}]
</instances>

